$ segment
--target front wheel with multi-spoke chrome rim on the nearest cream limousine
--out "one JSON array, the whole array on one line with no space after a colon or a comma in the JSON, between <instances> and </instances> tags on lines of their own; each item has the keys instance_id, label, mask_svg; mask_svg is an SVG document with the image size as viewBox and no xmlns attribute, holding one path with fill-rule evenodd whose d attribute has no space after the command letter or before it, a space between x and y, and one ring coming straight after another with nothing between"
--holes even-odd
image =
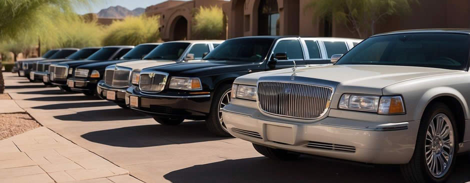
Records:
<instances>
[{"instance_id":1,"label":"front wheel with multi-spoke chrome rim on the nearest cream limousine","mask_svg":"<svg viewBox=\"0 0 470 183\"><path fill-rule=\"evenodd\" d=\"M452 111L433 103L424 112L411 160L401 165L408 182L445 182L455 164L456 128Z\"/></svg>"}]
</instances>

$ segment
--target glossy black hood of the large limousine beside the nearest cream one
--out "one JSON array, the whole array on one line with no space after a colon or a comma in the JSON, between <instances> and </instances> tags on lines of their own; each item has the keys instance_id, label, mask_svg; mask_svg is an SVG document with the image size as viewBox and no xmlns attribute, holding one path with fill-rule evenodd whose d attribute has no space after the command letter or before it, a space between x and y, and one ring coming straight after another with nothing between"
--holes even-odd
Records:
<instances>
[{"instance_id":1,"label":"glossy black hood of the large limousine beside the nearest cream one","mask_svg":"<svg viewBox=\"0 0 470 183\"><path fill-rule=\"evenodd\" d=\"M177 76L204 76L222 72L255 70L260 69L263 64L244 61L197 61L186 63L175 63L161 65L144 69L145 71L160 71Z\"/></svg>"}]
</instances>

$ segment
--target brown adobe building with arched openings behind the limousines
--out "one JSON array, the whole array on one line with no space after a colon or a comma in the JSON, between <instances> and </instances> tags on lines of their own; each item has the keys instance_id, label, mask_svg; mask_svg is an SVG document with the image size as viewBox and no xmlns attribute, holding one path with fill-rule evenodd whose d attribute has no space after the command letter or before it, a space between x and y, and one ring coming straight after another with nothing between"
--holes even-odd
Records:
<instances>
[{"instance_id":1,"label":"brown adobe building with arched openings behind the limousines","mask_svg":"<svg viewBox=\"0 0 470 183\"><path fill-rule=\"evenodd\" d=\"M314 16L305 6L311 0L168 0L145 9L160 15L163 40L191 39L192 8L221 6L227 19L226 37L301 35L358 38L343 23ZM415 28L470 28L470 0L419 0L411 12L388 16L375 33Z\"/></svg>"}]
</instances>

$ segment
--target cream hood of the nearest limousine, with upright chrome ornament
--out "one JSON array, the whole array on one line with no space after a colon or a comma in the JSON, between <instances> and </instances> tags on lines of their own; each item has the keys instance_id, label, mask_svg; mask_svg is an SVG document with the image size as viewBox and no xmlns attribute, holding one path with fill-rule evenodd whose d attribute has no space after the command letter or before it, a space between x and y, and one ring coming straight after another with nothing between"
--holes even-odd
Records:
<instances>
[{"instance_id":1,"label":"cream hood of the nearest limousine, with upright chrome ornament","mask_svg":"<svg viewBox=\"0 0 470 183\"><path fill-rule=\"evenodd\" d=\"M431 67L395 66L395 65L320 65L298 67L292 77L292 69L260 72L241 76L236 83L256 85L257 80L297 80L337 84L338 92L357 92L382 94L382 88L397 82L420 77L464 72Z\"/></svg>"}]
</instances>

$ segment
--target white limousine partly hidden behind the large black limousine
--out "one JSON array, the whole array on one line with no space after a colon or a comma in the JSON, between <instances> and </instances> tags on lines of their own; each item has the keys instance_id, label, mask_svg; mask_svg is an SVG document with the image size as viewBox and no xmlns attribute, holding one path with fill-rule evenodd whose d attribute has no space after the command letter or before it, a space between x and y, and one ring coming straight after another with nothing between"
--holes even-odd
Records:
<instances>
[{"instance_id":1,"label":"white limousine partly hidden behind the large black limousine","mask_svg":"<svg viewBox=\"0 0 470 183\"><path fill-rule=\"evenodd\" d=\"M102 98L127 108L124 102L125 89L138 84L140 70L146 67L170 63L182 63L201 59L223 40L180 40L159 45L148 53L143 60L128 61L109 65L104 72L104 79L98 83L98 93Z\"/></svg>"}]
</instances>

